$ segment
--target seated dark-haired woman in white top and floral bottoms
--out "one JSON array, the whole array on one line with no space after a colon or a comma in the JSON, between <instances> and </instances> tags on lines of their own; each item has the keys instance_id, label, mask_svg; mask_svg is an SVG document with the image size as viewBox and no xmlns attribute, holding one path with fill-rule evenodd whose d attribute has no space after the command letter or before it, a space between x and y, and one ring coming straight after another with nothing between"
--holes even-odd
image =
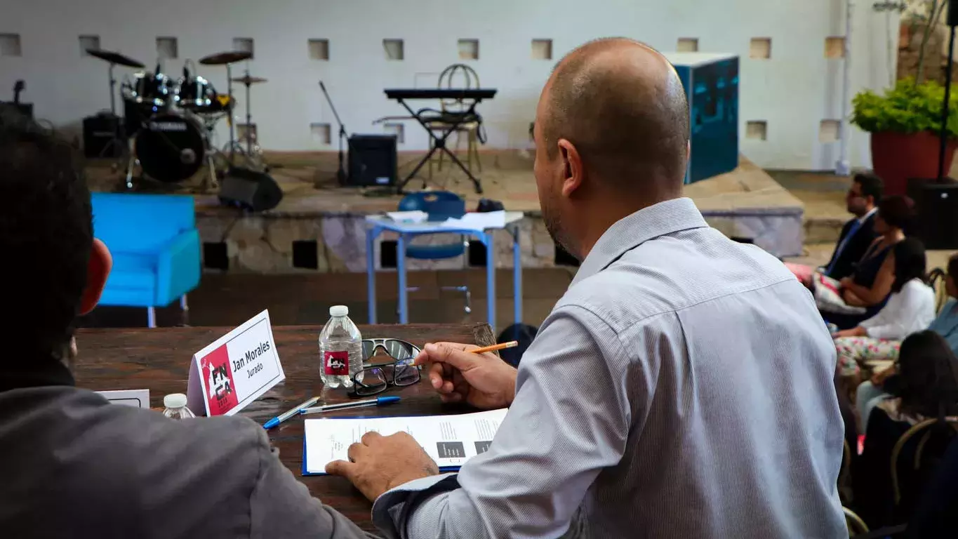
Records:
<instances>
[{"instance_id":1,"label":"seated dark-haired woman in white top and floral bottoms","mask_svg":"<svg viewBox=\"0 0 958 539\"><path fill-rule=\"evenodd\" d=\"M870 361L898 359L901 341L935 319L935 291L925 284L924 245L909 237L895 245L891 257L895 283L888 303L857 327L833 335L838 373L856 376Z\"/></svg>"}]
</instances>

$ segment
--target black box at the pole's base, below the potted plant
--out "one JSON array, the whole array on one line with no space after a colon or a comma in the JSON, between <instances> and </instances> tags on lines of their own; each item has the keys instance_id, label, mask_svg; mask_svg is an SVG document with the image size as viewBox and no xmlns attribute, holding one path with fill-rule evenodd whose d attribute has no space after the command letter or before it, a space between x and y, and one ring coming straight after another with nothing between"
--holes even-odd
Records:
<instances>
[{"instance_id":1,"label":"black box at the pole's base, below the potted plant","mask_svg":"<svg viewBox=\"0 0 958 539\"><path fill-rule=\"evenodd\" d=\"M911 179L908 196L917 213L912 234L929 250L958 249L958 182Z\"/></svg>"}]
</instances>

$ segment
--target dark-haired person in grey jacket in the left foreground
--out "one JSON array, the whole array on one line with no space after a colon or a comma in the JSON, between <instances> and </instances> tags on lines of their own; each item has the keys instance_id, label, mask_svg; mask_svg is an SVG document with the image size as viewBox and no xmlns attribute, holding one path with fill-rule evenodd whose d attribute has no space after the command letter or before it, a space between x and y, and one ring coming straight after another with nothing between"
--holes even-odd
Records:
<instances>
[{"instance_id":1,"label":"dark-haired person in grey jacket in the left foreground","mask_svg":"<svg viewBox=\"0 0 958 539\"><path fill-rule=\"evenodd\" d=\"M74 386L74 320L112 260L70 147L20 115L0 113L0 200L0 536L366 537L253 421L174 421Z\"/></svg>"}]
</instances>

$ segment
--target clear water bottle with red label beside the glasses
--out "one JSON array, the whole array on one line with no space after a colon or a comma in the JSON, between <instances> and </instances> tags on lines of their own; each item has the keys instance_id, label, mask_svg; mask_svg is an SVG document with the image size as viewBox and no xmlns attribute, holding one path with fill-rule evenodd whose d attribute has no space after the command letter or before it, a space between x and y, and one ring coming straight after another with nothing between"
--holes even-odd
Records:
<instances>
[{"instance_id":1,"label":"clear water bottle with red label beside the glasses","mask_svg":"<svg viewBox=\"0 0 958 539\"><path fill-rule=\"evenodd\" d=\"M328 388L352 388L353 375L362 371L362 335L349 315L346 305L331 306L331 319L319 334L319 373Z\"/></svg>"}]
</instances>

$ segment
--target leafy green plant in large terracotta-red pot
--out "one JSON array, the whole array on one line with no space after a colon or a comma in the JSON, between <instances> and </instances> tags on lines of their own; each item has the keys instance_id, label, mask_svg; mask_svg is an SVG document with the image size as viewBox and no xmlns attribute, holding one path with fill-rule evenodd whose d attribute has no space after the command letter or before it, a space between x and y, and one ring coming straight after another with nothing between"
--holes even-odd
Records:
<instances>
[{"instance_id":1,"label":"leafy green plant in large terracotta-red pot","mask_svg":"<svg viewBox=\"0 0 958 539\"><path fill-rule=\"evenodd\" d=\"M945 87L933 80L901 79L883 95L865 90L855 96L852 124L872 134L872 168L887 194L904 194L909 178L938 177L944 101ZM946 173L958 146L958 91L949 101Z\"/></svg>"}]
</instances>

